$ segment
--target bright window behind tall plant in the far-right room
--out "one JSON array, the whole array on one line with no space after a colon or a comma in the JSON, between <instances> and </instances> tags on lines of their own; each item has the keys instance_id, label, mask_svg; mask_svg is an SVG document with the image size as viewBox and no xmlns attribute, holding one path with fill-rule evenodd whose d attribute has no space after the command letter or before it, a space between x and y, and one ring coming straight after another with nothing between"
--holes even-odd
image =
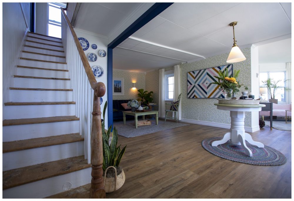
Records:
<instances>
[{"instance_id":1,"label":"bright window behind tall plant in the far-right room","mask_svg":"<svg viewBox=\"0 0 294 201\"><path fill-rule=\"evenodd\" d=\"M263 72L263 73L259 73L259 85L260 86L264 86L264 84L262 83L262 81L267 80L268 78L273 79L274 81L278 81L281 80L280 82L278 82L278 86L279 88L276 90L275 92L275 99L278 99L278 101L280 102L285 102L285 87L286 87L286 72L285 71L280 71L280 72ZM262 87L260 87L262 88ZM273 91L272 91L273 93ZM268 97L268 94L263 94L265 96L265 99L268 100L270 97Z\"/></svg>"}]
</instances>

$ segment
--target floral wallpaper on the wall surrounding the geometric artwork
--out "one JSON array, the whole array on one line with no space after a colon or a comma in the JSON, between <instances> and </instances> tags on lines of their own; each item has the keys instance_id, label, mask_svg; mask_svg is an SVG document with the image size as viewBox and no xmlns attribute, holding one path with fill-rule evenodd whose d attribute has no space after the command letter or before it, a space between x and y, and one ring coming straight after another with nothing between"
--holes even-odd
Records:
<instances>
[{"instance_id":1,"label":"floral wallpaper on the wall surrounding the geometric artwork","mask_svg":"<svg viewBox=\"0 0 294 201\"><path fill-rule=\"evenodd\" d=\"M241 84L247 85L248 91L251 91L250 48L245 48L242 52L247 59L242 62L233 63L233 70L240 69L238 80L240 80ZM225 53L201 61L180 65L183 119L230 124L230 112L218 110L216 106L213 105L214 103L218 103L216 98L187 98L187 73L193 70L226 65L227 58L228 53ZM240 91L242 90L244 90L244 88L241 88ZM238 92L236 96L240 97L241 95L241 92ZM251 126L251 115L249 112L245 113L245 126Z\"/></svg>"}]
</instances>

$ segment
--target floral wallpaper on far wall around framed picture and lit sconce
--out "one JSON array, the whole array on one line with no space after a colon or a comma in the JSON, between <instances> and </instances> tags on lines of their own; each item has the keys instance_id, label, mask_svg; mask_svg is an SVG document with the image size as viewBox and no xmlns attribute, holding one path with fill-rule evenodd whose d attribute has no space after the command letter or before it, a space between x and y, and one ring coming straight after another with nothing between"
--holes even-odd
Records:
<instances>
[{"instance_id":1,"label":"floral wallpaper on far wall around framed picture and lit sconce","mask_svg":"<svg viewBox=\"0 0 294 201\"><path fill-rule=\"evenodd\" d=\"M138 99L138 89L145 89L145 73L113 70L112 78L123 78L124 95L113 95L113 100ZM136 89L132 89L136 82Z\"/></svg>"}]
</instances>

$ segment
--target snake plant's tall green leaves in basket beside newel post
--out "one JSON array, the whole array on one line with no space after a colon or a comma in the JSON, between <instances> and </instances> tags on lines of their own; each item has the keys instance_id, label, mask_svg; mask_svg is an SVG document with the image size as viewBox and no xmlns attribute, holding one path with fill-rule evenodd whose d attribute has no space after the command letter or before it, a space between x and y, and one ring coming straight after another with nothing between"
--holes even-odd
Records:
<instances>
[{"instance_id":1,"label":"snake plant's tall green leaves in basket beside newel post","mask_svg":"<svg viewBox=\"0 0 294 201\"><path fill-rule=\"evenodd\" d=\"M105 119L105 112L107 107L107 101L105 102L103 109L103 119ZM117 129L114 127L112 131L112 139L109 144L109 136L112 129L112 125L109 126L107 133L105 132L105 121L102 122L102 137L103 137L103 171L109 166L118 167L121 162L121 157L126 151L126 146L121 149L121 145L117 147Z\"/></svg>"}]
</instances>

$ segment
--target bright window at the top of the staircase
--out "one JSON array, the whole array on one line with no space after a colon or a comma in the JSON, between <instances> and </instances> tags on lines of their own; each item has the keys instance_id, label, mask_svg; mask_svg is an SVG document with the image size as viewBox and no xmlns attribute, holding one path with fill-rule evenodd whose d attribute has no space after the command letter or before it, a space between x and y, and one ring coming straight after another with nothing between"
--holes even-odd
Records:
<instances>
[{"instance_id":1,"label":"bright window at the top of the staircase","mask_svg":"<svg viewBox=\"0 0 294 201\"><path fill-rule=\"evenodd\" d=\"M48 3L47 26L48 36L61 38L61 11L66 8L65 3ZM66 12L66 11L65 11Z\"/></svg>"}]
</instances>

